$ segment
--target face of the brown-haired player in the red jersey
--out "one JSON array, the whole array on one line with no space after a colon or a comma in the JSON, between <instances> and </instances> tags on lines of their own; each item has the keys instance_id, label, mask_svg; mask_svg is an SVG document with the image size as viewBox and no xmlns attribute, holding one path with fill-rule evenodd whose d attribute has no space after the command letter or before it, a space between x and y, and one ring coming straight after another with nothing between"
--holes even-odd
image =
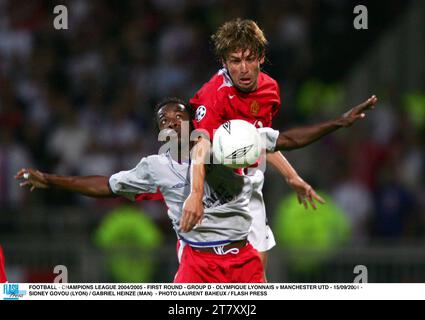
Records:
<instances>
[{"instance_id":1,"label":"face of the brown-haired player in the red jersey","mask_svg":"<svg viewBox=\"0 0 425 320\"><path fill-rule=\"evenodd\" d=\"M252 92L257 89L260 66L264 63L264 57L257 57L251 50L237 50L230 52L224 67L229 71L234 86L242 92Z\"/></svg>"}]
</instances>

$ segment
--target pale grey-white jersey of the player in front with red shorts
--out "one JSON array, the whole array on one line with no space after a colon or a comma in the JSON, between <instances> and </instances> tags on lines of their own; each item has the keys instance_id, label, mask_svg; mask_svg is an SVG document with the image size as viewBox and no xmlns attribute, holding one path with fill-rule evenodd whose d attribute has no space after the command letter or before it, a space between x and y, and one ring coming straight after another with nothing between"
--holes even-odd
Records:
<instances>
[{"instance_id":1,"label":"pale grey-white jersey of the player in front with red shorts","mask_svg":"<svg viewBox=\"0 0 425 320\"><path fill-rule=\"evenodd\" d=\"M260 133L266 148L274 150L279 132L262 128ZM191 246L220 246L247 238L252 221L251 179L222 165L206 166L201 223L189 232L180 230L184 201L191 190L190 172L189 162L179 163L167 152L145 157L135 168L112 175L109 184L112 192L133 201L137 195L159 188L177 236Z\"/></svg>"}]
</instances>

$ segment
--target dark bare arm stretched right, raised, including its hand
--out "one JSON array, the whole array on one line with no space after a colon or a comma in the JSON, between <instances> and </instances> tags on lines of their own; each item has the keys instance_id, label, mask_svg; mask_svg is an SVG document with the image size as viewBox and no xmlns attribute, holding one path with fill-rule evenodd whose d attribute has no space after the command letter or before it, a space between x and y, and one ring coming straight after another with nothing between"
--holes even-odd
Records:
<instances>
[{"instance_id":1,"label":"dark bare arm stretched right, raised, including its hand","mask_svg":"<svg viewBox=\"0 0 425 320\"><path fill-rule=\"evenodd\" d=\"M376 96L370 97L365 102L355 106L341 117L325 121L319 124L293 128L279 134L276 150L293 150L302 148L318 139L340 128L347 128L359 119L363 119L365 111L373 109L378 102Z\"/></svg>"}]
</instances>

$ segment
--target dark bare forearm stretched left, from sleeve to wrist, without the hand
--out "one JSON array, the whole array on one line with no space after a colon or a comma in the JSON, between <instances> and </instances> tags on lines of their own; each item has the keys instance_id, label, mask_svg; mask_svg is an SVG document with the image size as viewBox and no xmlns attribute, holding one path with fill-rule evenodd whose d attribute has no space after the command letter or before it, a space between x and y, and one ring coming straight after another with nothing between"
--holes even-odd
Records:
<instances>
[{"instance_id":1,"label":"dark bare forearm stretched left, from sleeve to wrist, without the hand","mask_svg":"<svg viewBox=\"0 0 425 320\"><path fill-rule=\"evenodd\" d=\"M115 196L109 187L109 178L105 176L58 176L43 173L43 177L48 187L60 188L96 198Z\"/></svg>"}]
</instances>

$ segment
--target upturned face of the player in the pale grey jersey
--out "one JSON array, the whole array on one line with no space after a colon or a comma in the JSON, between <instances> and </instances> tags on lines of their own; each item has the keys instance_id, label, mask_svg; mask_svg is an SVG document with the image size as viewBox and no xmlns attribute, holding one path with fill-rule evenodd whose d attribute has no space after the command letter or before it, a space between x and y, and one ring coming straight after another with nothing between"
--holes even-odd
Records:
<instances>
[{"instance_id":1,"label":"upturned face of the player in the pale grey jersey","mask_svg":"<svg viewBox=\"0 0 425 320\"><path fill-rule=\"evenodd\" d=\"M157 121L159 130L174 130L180 139L182 121L187 121L189 124L190 117L184 105L172 102L159 109Z\"/></svg>"}]
</instances>

